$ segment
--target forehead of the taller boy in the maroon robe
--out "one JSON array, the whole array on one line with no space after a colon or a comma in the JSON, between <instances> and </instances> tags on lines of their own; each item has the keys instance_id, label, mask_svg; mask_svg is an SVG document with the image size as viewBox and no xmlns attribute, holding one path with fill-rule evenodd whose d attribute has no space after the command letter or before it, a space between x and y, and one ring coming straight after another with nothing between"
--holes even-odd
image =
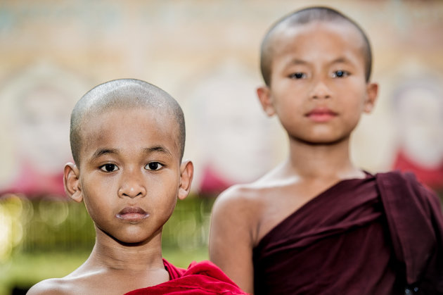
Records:
<instances>
[{"instance_id":1,"label":"forehead of the taller boy in the maroon robe","mask_svg":"<svg viewBox=\"0 0 443 295\"><path fill-rule=\"evenodd\" d=\"M273 34L272 55L298 54L312 58L351 55L364 59L364 39L356 27L344 22L314 21L282 24Z\"/></svg>"}]
</instances>

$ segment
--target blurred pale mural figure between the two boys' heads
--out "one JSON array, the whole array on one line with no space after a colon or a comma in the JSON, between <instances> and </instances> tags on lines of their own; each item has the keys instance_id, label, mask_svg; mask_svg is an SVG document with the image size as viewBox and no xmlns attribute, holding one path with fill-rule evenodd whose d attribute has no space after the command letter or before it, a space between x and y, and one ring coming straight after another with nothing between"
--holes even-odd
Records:
<instances>
[{"instance_id":1,"label":"blurred pale mural figure between the two boys' heads","mask_svg":"<svg viewBox=\"0 0 443 295\"><path fill-rule=\"evenodd\" d=\"M226 61L195 84L187 117L193 121L188 131L196 132L188 142L198 149L195 189L217 194L263 175L275 161L275 140L257 103L259 80L240 63Z\"/></svg>"}]
</instances>

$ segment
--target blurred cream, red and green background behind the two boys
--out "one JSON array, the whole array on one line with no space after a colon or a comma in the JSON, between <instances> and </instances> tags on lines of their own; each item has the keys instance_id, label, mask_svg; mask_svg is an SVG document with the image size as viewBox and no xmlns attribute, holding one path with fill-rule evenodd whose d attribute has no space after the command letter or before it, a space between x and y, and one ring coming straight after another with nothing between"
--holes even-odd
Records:
<instances>
[{"instance_id":1,"label":"blurred cream, red and green background behind the two boys","mask_svg":"<svg viewBox=\"0 0 443 295\"><path fill-rule=\"evenodd\" d=\"M164 230L164 256L207 258L210 211L231 184L282 161L287 142L259 108L259 44L298 8L338 8L366 30L380 96L352 139L370 172L411 170L443 192L443 1L0 1L0 294L77 268L94 244L66 199L69 115L96 84L132 77L184 108L191 196Z\"/></svg>"}]
</instances>

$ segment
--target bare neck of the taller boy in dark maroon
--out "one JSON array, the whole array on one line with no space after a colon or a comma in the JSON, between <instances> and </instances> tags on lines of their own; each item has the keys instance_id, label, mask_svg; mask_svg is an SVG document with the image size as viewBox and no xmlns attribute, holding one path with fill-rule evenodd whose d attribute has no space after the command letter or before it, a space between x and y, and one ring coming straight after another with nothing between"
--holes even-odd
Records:
<instances>
[{"instance_id":1,"label":"bare neck of the taller boy in dark maroon","mask_svg":"<svg viewBox=\"0 0 443 295\"><path fill-rule=\"evenodd\" d=\"M333 144L309 144L290 139L286 167L302 179L364 177L349 158L349 137Z\"/></svg>"}]
</instances>

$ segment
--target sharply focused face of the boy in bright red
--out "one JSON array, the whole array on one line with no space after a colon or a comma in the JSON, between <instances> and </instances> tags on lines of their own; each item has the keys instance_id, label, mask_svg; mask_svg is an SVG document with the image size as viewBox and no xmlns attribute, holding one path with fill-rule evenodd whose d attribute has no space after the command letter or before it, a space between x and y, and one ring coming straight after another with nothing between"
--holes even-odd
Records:
<instances>
[{"instance_id":1,"label":"sharply focused face of the boy in bright red","mask_svg":"<svg viewBox=\"0 0 443 295\"><path fill-rule=\"evenodd\" d=\"M105 111L82 130L79 189L96 227L126 243L160 233L179 194L176 121L162 111Z\"/></svg>"}]
</instances>

